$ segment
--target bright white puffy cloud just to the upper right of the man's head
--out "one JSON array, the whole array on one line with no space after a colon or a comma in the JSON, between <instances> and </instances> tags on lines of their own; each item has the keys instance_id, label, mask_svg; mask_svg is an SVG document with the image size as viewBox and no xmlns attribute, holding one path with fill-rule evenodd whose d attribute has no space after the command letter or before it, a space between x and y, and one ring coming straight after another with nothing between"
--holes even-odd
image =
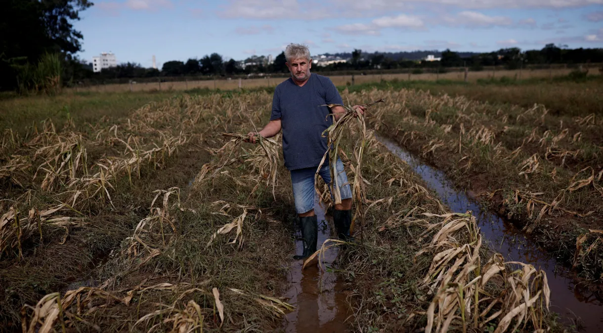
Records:
<instances>
[{"instance_id":1,"label":"bright white puffy cloud just to the upper right of the man's head","mask_svg":"<svg viewBox=\"0 0 603 333\"><path fill-rule=\"evenodd\" d=\"M342 34L365 34L369 36L380 36L380 30L383 28L412 28L423 27L423 21L417 16L399 14L398 16L377 17L370 24L353 23L344 24L335 27L336 31Z\"/></svg>"}]
</instances>

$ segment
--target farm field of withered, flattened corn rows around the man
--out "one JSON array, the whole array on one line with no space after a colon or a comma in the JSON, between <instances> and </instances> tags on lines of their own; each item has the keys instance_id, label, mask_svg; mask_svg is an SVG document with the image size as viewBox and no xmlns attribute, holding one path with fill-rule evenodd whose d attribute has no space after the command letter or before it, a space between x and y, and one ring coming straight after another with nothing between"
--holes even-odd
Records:
<instances>
[{"instance_id":1,"label":"farm field of withered, flattened corn rows around the man","mask_svg":"<svg viewBox=\"0 0 603 333\"><path fill-rule=\"evenodd\" d=\"M352 180L353 151L365 141L364 223L355 243L329 249L339 251L331 267L310 264L344 284L346 325L563 331L547 311L543 272L505 263L482 244L473 215L450 211L374 134L440 167L599 279L600 241L588 229L603 229L600 113L365 88L342 92L350 103L385 99L370 107L365 135L350 122L342 146ZM81 106L59 117L52 110L68 103L63 96L1 101L5 119L33 106L22 122L3 123L0 330L284 331L296 306L282 296L297 227L282 156L268 153L280 140L254 146L219 134L266 122L272 96L166 94L115 94L110 107L90 107L107 94L76 94L69 103Z\"/></svg>"}]
</instances>

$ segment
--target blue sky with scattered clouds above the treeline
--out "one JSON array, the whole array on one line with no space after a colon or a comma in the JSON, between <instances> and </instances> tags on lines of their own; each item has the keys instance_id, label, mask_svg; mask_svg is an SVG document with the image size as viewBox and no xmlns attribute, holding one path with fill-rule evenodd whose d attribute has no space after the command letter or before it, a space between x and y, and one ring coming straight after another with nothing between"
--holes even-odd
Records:
<instances>
[{"instance_id":1,"label":"blue sky with scattered clouds above the treeline","mask_svg":"<svg viewBox=\"0 0 603 333\"><path fill-rule=\"evenodd\" d=\"M74 23L81 59L157 67L218 52L277 56L289 43L326 52L603 47L603 0L93 0Z\"/></svg>"}]
</instances>

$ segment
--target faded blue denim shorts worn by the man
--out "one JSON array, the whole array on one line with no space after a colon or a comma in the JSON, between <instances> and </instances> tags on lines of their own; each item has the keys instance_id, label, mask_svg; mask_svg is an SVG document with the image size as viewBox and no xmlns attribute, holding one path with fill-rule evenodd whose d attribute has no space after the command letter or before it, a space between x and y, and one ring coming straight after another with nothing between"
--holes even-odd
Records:
<instances>
[{"instance_id":1,"label":"faded blue denim shorts worn by the man","mask_svg":"<svg viewBox=\"0 0 603 333\"><path fill-rule=\"evenodd\" d=\"M326 161L328 162L328 161ZM352 188L347 182L346 171L344 171L343 163L337 159L337 183L339 184L339 192L341 199L352 198ZM314 174L317 168L303 168L291 170L291 183L293 186L293 198L295 200L295 211L297 214L303 214L314 209ZM331 182L331 174L329 165L323 164L318 173L323 178L324 182L329 185ZM331 200L335 201L331 192Z\"/></svg>"}]
</instances>

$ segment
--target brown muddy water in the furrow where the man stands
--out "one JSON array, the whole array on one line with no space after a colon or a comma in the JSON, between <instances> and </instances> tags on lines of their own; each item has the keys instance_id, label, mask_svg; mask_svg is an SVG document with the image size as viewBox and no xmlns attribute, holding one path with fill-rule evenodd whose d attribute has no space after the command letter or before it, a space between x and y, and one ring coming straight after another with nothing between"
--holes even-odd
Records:
<instances>
[{"instance_id":1,"label":"brown muddy water in the furrow where the man stands","mask_svg":"<svg viewBox=\"0 0 603 333\"><path fill-rule=\"evenodd\" d=\"M318 218L317 244L320 248L325 239L332 237L324 210L318 205L318 201L314 203L314 212ZM295 251L303 252L301 240L295 242ZM337 252L336 247L326 251L322 273L318 268L317 259L310 262L304 270L301 270L303 261L292 261L289 273L291 287L285 297L288 298L289 303L295 305L295 310L289 312L283 321L286 332L346 331L345 321L350 316L350 312L346 304L344 285L337 280L334 272L327 269L332 267Z\"/></svg>"}]
</instances>

